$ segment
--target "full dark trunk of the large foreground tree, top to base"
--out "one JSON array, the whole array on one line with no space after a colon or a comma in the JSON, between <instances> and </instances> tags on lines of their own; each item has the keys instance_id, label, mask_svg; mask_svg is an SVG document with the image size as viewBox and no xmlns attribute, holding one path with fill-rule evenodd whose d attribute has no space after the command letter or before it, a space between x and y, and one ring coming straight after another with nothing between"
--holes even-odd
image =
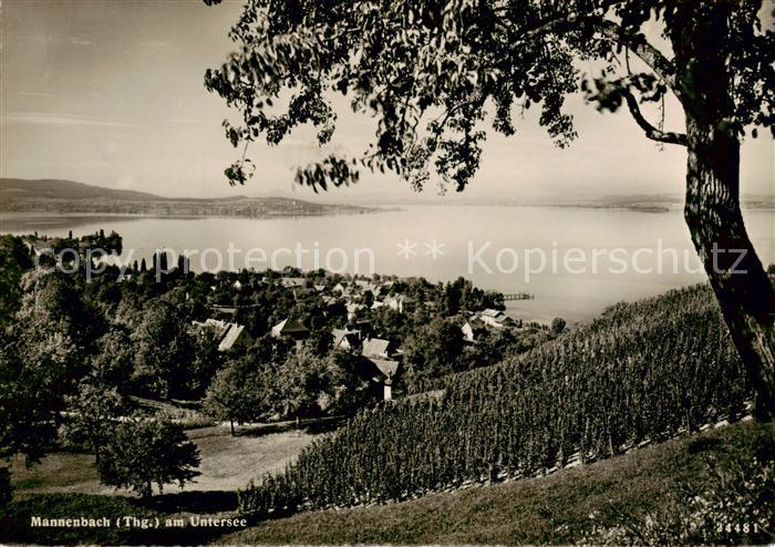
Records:
<instances>
[{"instance_id":1,"label":"full dark trunk of the large foreground tree, top to base","mask_svg":"<svg viewBox=\"0 0 775 547\"><path fill-rule=\"evenodd\" d=\"M678 4L670 38L686 115L684 216L732 340L755 390L755 415L775 413L775 290L740 209L740 141L730 60L734 2Z\"/></svg>"}]
</instances>

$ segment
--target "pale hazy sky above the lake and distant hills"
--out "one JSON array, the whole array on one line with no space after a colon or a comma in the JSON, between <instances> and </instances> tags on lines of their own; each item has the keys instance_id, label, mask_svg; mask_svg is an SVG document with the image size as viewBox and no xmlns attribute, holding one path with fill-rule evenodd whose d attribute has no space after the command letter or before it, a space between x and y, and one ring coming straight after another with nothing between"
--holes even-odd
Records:
<instances>
[{"instance_id":1,"label":"pale hazy sky above the lake and distant hills","mask_svg":"<svg viewBox=\"0 0 775 547\"><path fill-rule=\"evenodd\" d=\"M0 175L68 178L169 196L311 196L292 172L320 154L312 132L269 148L252 146L258 169L230 188L224 168L237 152L220 122L229 111L203 84L207 68L234 49L227 33L239 2L199 0L0 0ZM645 140L624 113L599 114L570 101L578 141L556 149L535 116L517 135L488 135L466 199L535 200L608 194L682 193L685 151ZM362 152L373 121L337 103L332 146ZM683 131L669 109L668 128ZM772 194L771 138L743 146L743 192ZM335 200L412 199L397 177L365 175ZM435 197L430 187L423 198ZM452 199L458 199L453 196Z\"/></svg>"}]
</instances>

